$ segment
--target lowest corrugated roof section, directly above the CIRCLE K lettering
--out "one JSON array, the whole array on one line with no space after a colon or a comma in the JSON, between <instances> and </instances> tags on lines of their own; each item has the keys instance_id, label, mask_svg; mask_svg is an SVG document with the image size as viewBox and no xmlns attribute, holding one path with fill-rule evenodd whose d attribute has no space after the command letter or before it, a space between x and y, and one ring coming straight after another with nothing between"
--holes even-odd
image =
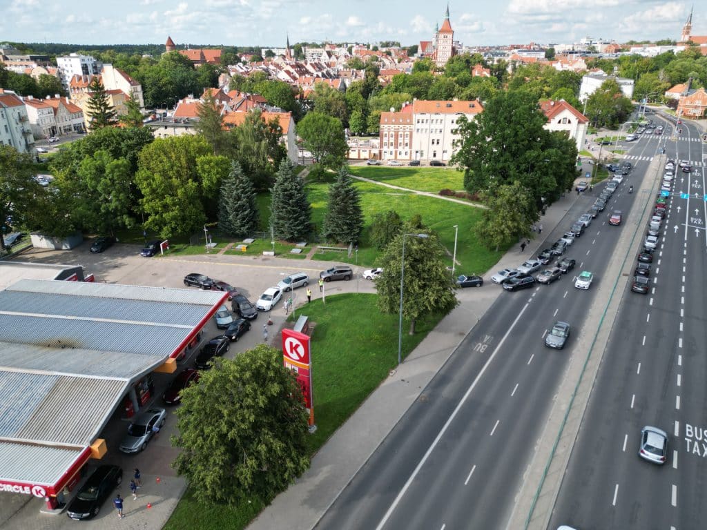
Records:
<instances>
[{"instance_id":1,"label":"lowest corrugated roof section, directly above the CIRCLE K lettering","mask_svg":"<svg viewBox=\"0 0 707 530\"><path fill-rule=\"evenodd\" d=\"M81 449L0 442L0 480L54 484L79 454Z\"/></svg>"}]
</instances>

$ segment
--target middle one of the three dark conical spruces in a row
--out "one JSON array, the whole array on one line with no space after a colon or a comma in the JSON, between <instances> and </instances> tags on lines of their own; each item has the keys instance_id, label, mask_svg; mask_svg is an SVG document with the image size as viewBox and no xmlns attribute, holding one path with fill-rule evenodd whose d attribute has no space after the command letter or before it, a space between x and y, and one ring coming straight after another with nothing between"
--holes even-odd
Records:
<instances>
[{"instance_id":1,"label":"middle one of the three dark conical spruces in a row","mask_svg":"<svg viewBox=\"0 0 707 530\"><path fill-rule=\"evenodd\" d=\"M270 192L270 223L276 237L286 241L305 239L311 231L311 206L305 193L304 181L294 174L288 158L280 163Z\"/></svg>"}]
</instances>

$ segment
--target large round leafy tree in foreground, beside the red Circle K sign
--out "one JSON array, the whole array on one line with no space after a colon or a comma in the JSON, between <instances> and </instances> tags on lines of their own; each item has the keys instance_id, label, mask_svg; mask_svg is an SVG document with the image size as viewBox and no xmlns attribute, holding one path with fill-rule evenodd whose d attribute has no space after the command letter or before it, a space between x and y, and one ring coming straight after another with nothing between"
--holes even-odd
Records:
<instances>
[{"instance_id":1,"label":"large round leafy tree in foreground, beside the red Circle K sign","mask_svg":"<svg viewBox=\"0 0 707 530\"><path fill-rule=\"evenodd\" d=\"M174 467L201 502L270 500L309 466L302 391L264 344L216 365L182 391Z\"/></svg>"}]
</instances>

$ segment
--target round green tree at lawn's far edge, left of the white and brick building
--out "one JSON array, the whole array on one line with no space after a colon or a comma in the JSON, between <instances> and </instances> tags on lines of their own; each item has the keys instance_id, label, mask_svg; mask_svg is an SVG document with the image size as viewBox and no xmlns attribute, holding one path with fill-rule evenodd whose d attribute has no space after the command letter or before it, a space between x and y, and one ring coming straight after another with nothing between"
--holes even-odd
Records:
<instances>
[{"instance_id":1,"label":"round green tree at lawn's far edge, left of the white and brick building","mask_svg":"<svg viewBox=\"0 0 707 530\"><path fill-rule=\"evenodd\" d=\"M297 126L304 148L325 167L344 163L348 146L339 119L320 112L308 112Z\"/></svg>"}]
</instances>

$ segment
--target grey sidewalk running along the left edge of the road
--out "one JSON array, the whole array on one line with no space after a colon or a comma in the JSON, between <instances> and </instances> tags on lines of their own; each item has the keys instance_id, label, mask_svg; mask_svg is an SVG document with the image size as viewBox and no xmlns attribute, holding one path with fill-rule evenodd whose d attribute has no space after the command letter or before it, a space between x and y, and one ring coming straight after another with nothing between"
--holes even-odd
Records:
<instances>
[{"instance_id":1,"label":"grey sidewalk running along the left edge of the road","mask_svg":"<svg viewBox=\"0 0 707 530\"><path fill-rule=\"evenodd\" d=\"M576 194L567 193L548 208L539 221L543 225L543 234L531 240L525 252L521 252L520 245L515 245L486 276L505 267L513 269L537 252L545 237L561 222L576 199ZM249 529L312 529L409 406L418 399L464 336L472 331L474 326L469 329L469 322L478 322L501 291L490 281L481 289L461 290L458 296L460 305L442 319L398 370L392 372L368 396L358 411L315 454L310 469L276 497L250 524Z\"/></svg>"}]
</instances>

